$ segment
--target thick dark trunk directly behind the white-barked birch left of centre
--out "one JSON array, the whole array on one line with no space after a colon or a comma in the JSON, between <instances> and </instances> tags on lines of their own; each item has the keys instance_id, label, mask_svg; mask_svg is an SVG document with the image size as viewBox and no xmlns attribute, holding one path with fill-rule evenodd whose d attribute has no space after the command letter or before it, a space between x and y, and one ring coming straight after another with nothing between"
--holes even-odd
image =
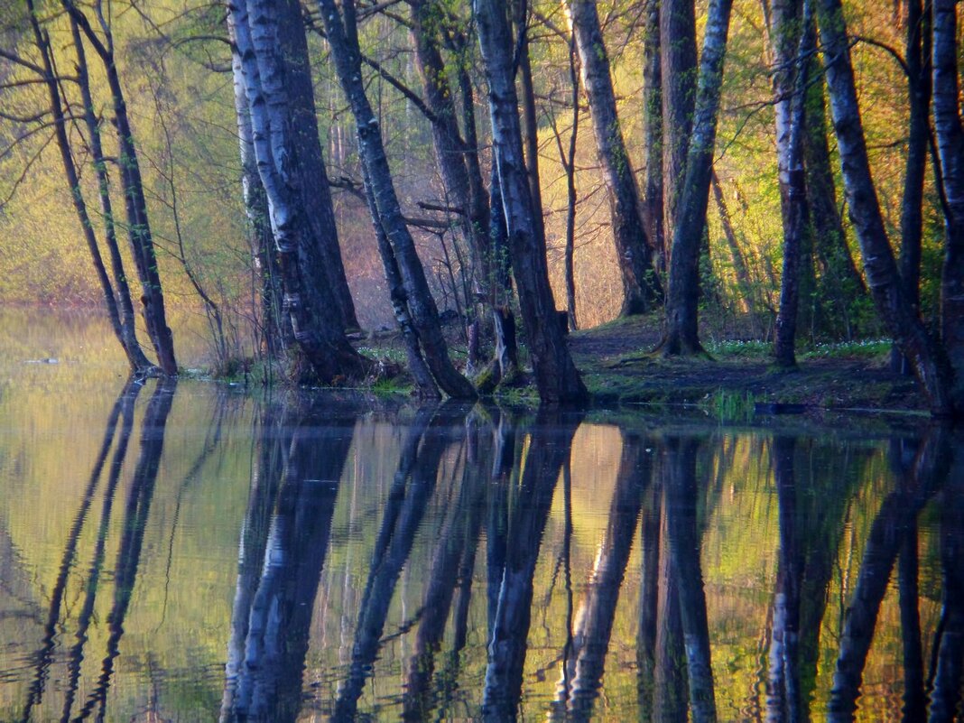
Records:
<instances>
[{"instance_id":1,"label":"thick dark trunk directly behind the white-barked birch left of centre","mask_svg":"<svg viewBox=\"0 0 964 723\"><path fill-rule=\"evenodd\" d=\"M291 109L291 143L300 167L299 190L312 240L306 248L309 274L318 280L308 285L310 293L328 281L332 298L341 311L345 329L359 329L352 292L345 278L345 266L338 246L335 207L328 185L328 172L318 137L318 117L314 104L314 86L308 61L308 40L299 0L281 0L278 8L278 40L284 62L285 90ZM313 304L322 304L319 296Z\"/></svg>"}]
</instances>

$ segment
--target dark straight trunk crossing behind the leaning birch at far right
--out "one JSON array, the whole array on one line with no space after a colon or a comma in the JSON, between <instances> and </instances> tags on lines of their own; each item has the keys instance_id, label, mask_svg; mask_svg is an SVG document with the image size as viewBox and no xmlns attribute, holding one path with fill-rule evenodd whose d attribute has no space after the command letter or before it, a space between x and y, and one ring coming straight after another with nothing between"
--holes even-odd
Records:
<instances>
[{"instance_id":1,"label":"dark straight trunk crossing behind the leaning birch at far right","mask_svg":"<svg viewBox=\"0 0 964 723\"><path fill-rule=\"evenodd\" d=\"M900 257L897 267L904 293L913 308L921 310L921 241L924 235L924 174L930 140L930 13L921 0L907 0L907 97L910 101L910 127L907 136L907 161L904 171L903 201L900 204ZM910 374L910 364L895 347L891 369Z\"/></svg>"}]
</instances>

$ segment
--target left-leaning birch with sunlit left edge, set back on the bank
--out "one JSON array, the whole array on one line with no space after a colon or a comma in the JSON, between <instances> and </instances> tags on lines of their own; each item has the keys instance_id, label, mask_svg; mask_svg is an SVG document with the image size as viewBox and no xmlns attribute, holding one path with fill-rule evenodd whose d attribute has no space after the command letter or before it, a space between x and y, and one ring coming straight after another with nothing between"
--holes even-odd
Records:
<instances>
[{"instance_id":1,"label":"left-leaning birch with sunlit left edge, set back on the bank","mask_svg":"<svg viewBox=\"0 0 964 723\"><path fill-rule=\"evenodd\" d=\"M596 131L596 147L611 203L612 237L623 277L620 315L645 313L662 295L662 288L654 273L636 176L616 114L616 95L609 74L603 29L595 0L573 0L570 7L582 79Z\"/></svg>"}]
</instances>

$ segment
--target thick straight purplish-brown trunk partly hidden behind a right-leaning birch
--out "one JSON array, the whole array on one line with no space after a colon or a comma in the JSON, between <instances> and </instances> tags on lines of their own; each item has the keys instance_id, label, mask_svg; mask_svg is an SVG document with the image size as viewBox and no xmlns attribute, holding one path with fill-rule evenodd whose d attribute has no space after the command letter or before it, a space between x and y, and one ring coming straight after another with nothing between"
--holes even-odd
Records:
<instances>
[{"instance_id":1,"label":"thick straight purplish-brown trunk partly hidden behind a right-leaning birch","mask_svg":"<svg viewBox=\"0 0 964 723\"><path fill-rule=\"evenodd\" d=\"M663 233L676 233L677 205L696 103L696 18L693 0L659 0L659 73L662 98ZM674 249L667 250L670 258ZM670 258L665 263L668 267Z\"/></svg>"}]
</instances>

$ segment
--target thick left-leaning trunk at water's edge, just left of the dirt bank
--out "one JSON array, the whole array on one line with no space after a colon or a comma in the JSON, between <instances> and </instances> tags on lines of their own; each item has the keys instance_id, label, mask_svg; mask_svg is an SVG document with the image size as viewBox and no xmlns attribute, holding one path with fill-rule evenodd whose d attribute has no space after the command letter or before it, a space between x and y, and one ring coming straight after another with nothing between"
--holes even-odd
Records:
<instances>
[{"instance_id":1,"label":"thick left-leaning trunk at water's edge, just left of the dirt bank","mask_svg":"<svg viewBox=\"0 0 964 723\"><path fill-rule=\"evenodd\" d=\"M555 301L549 286L546 237L540 235L522 161L519 102L513 78L512 32L506 9L497 0L473 0L479 46L489 81L495 163L498 169L512 266L519 290L522 321L528 336L532 369L539 396L548 402L575 402L586 388L556 323Z\"/></svg>"}]
</instances>

